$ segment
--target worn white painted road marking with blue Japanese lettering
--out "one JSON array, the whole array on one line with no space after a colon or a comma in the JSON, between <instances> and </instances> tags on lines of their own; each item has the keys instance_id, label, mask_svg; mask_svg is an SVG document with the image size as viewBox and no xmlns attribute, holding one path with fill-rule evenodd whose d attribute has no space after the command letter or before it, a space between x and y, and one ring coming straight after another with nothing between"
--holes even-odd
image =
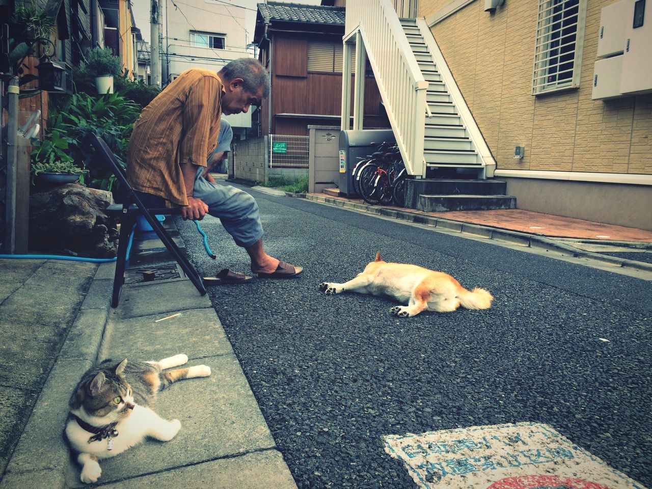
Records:
<instances>
[{"instance_id":1,"label":"worn white painted road marking with blue Japanese lettering","mask_svg":"<svg viewBox=\"0 0 652 489\"><path fill-rule=\"evenodd\" d=\"M383 436L423 489L645 489L547 424Z\"/></svg>"}]
</instances>

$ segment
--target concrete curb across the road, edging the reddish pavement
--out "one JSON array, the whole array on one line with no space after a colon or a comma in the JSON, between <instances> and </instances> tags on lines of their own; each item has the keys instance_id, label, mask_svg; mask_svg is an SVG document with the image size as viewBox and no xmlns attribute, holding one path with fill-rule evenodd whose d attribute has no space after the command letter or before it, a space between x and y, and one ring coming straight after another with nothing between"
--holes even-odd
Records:
<instances>
[{"instance_id":1,"label":"concrete curb across the road, edging the reddish pavement","mask_svg":"<svg viewBox=\"0 0 652 489\"><path fill-rule=\"evenodd\" d=\"M615 267L652 272L652 263L634 261L625 258L617 258L615 256L602 255L599 253L580 250L580 248L576 248L570 244L559 243L559 241L544 236L492 228L490 226L482 226L481 224L470 224L467 222L443 219L440 217L428 216L417 212L403 211L401 209L377 207L375 205L368 205L366 203L363 204L358 202L351 202L315 194L306 194L306 199L319 203L335 205L337 207L344 207L344 209L348 210L386 216L407 222L414 222L415 224L425 224L426 226L439 228L441 231L463 233L476 237L492 239L494 241L503 241L505 243L516 244L527 248L537 248L541 251L556 252L563 256L590 259L592 261L598 261L600 263L613 265Z\"/></svg>"}]
</instances>

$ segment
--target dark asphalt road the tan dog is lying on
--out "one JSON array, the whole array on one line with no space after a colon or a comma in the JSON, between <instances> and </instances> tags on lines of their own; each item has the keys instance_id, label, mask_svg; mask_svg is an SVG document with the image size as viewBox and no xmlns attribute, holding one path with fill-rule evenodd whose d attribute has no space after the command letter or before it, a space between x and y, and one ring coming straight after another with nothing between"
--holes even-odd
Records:
<instances>
[{"instance_id":1,"label":"dark asphalt road the tan dog is lying on","mask_svg":"<svg viewBox=\"0 0 652 489\"><path fill-rule=\"evenodd\" d=\"M251 192L265 248L304 273L209 294L299 488L413 488L381 436L521 421L652 486L650 282ZM177 224L201 274L249 271L218 221L202 224L216 261L194 224ZM376 250L486 288L494 304L396 318L391 301L318 291Z\"/></svg>"}]
</instances>

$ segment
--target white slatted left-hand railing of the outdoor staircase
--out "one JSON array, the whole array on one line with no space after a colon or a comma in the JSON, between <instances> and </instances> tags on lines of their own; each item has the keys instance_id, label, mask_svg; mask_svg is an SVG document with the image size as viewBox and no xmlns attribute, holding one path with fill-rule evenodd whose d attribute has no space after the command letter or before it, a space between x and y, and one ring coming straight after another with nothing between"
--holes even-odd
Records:
<instances>
[{"instance_id":1,"label":"white slatted left-hand railing of the outdoor staircase","mask_svg":"<svg viewBox=\"0 0 652 489\"><path fill-rule=\"evenodd\" d=\"M409 175L425 177L426 90L417 59L389 0L348 0L346 35L360 31Z\"/></svg>"}]
</instances>

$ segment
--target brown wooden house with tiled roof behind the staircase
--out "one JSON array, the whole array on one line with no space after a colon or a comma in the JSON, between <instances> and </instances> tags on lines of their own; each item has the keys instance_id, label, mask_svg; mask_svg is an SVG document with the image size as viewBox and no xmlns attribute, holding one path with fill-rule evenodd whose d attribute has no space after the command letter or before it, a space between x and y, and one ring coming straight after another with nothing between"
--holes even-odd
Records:
<instances>
[{"instance_id":1,"label":"brown wooden house with tiled roof behind the staircase","mask_svg":"<svg viewBox=\"0 0 652 489\"><path fill-rule=\"evenodd\" d=\"M254 114L259 135L305 136L308 125L340 125L344 10L274 1L258 4L254 42L271 78L271 94ZM370 69L366 77L364 128L387 128Z\"/></svg>"}]
</instances>

